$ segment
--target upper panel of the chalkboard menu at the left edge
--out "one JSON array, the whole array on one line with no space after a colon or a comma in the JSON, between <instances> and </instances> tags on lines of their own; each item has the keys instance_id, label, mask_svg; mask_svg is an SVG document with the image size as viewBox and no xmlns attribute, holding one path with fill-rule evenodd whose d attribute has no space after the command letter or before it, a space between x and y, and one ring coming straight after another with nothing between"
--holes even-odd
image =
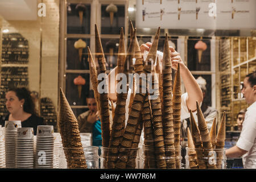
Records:
<instances>
[{"instance_id":1,"label":"upper panel of the chalkboard menu at the left edge","mask_svg":"<svg viewBox=\"0 0 256 182\"><path fill-rule=\"evenodd\" d=\"M28 41L22 35L3 34L2 64L28 64Z\"/></svg>"}]
</instances>

